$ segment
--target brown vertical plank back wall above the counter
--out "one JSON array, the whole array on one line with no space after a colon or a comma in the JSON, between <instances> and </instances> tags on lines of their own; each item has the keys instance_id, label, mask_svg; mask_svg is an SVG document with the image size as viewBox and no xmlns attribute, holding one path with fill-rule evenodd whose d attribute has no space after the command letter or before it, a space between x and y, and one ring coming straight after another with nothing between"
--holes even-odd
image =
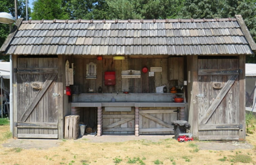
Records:
<instances>
[{"instance_id":1,"label":"brown vertical plank back wall above the counter","mask_svg":"<svg viewBox=\"0 0 256 165\"><path fill-rule=\"evenodd\" d=\"M183 84L183 58L176 57L178 60L177 68L182 68L181 72L176 72L179 84ZM112 58L103 60L74 58L75 75L74 85L78 85L81 93L87 93L88 89L93 89L98 92L99 86L102 87L103 93L122 92L129 90L130 93L155 93L157 86L168 84L167 72L168 64L167 58L136 58L125 60L113 60ZM97 64L97 79L86 79L86 64L93 62ZM141 72L141 78L121 78L121 71L124 70L139 70L146 66L150 71L152 66L162 66L162 72L155 72L154 77L148 77L148 73ZM116 72L116 85L104 85L104 72ZM182 83L181 83L182 82ZM130 86L128 86L130 84ZM171 85L168 85L169 87ZM129 89L128 89L129 88Z\"/></svg>"}]
</instances>

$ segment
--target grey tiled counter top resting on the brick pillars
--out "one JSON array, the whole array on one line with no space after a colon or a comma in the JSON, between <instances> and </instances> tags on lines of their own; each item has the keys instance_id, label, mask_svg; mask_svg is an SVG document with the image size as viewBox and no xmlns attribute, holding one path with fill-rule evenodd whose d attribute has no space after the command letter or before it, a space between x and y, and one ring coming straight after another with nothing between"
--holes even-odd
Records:
<instances>
[{"instance_id":1,"label":"grey tiled counter top resting on the brick pillars","mask_svg":"<svg viewBox=\"0 0 256 165\"><path fill-rule=\"evenodd\" d=\"M164 101L72 102L71 107L185 107L185 103Z\"/></svg>"}]
</instances>

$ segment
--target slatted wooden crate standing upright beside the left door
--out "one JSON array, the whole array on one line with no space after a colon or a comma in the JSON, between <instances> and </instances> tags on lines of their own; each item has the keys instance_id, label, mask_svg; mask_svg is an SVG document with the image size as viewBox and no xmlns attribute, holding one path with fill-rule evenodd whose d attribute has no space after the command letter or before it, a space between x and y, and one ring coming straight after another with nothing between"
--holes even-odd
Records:
<instances>
[{"instance_id":1,"label":"slatted wooden crate standing upright beside the left door","mask_svg":"<svg viewBox=\"0 0 256 165\"><path fill-rule=\"evenodd\" d=\"M79 115L65 117L65 139L77 139L79 134Z\"/></svg>"}]
</instances>

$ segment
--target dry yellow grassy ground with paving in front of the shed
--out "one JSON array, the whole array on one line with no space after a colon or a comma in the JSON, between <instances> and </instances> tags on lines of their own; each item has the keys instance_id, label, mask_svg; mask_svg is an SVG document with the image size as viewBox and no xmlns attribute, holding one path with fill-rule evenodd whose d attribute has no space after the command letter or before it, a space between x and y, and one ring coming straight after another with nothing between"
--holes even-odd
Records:
<instances>
[{"instance_id":1,"label":"dry yellow grassy ground with paving in front of the shed","mask_svg":"<svg viewBox=\"0 0 256 165\"><path fill-rule=\"evenodd\" d=\"M254 136L191 142L178 142L173 135L8 139L0 142L0 165L254 165Z\"/></svg>"}]
</instances>

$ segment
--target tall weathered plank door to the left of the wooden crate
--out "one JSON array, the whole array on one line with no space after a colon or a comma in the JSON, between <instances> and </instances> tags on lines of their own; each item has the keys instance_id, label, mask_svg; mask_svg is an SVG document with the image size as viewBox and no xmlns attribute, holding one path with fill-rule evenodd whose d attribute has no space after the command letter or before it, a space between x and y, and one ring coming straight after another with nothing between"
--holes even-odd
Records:
<instances>
[{"instance_id":1,"label":"tall weathered plank door to the left of the wooden crate","mask_svg":"<svg viewBox=\"0 0 256 165\"><path fill-rule=\"evenodd\" d=\"M57 58L18 58L18 138L58 138Z\"/></svg>"}]
</instances>

